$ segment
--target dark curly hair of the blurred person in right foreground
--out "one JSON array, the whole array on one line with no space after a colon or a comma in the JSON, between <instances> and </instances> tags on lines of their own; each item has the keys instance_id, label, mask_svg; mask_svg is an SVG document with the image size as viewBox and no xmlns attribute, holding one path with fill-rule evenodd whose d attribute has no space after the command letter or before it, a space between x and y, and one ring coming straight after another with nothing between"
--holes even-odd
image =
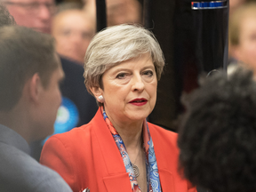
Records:
<instances>
[{"instance_id":1,"label":"dark curly hair of the blurred person in right foreground","mask_svg":"<svg viewBox=\"0 0 256 192\"><path fill-rule=\"evenodd\" d=\"M180 168L211 192L256 191L256 83L239 68L215 74L188 99Z\"/></svg>"}]
</instances>

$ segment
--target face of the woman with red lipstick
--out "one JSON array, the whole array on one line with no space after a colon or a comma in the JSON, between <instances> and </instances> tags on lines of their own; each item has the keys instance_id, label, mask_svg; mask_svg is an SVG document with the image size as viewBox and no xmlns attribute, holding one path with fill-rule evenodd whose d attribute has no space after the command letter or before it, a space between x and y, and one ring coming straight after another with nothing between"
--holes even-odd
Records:
<instances>
[{"instance_id":1,"label":"face of the woman with red lipstick","mask_svg":"<svg viewBox=\"0 0 256 192\"><path fill-rule=\"evenodd\" d=\"M102 83L104 108L111 122L126 124L144 120L155 107L156 70L149 54L108 69Z\"/></svg>"}]
</instances>

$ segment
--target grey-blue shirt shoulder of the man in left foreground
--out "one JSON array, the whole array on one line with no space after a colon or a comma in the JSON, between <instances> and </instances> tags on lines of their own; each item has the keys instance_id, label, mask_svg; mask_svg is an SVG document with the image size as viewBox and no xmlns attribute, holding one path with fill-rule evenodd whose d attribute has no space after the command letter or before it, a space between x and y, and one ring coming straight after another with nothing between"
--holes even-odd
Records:
<instances>
[{"instance_id":1,"label":"grey-blue shirt shoulder of the man in left foreground","mask_svg":"<svg viewBox=\"0 0 256 192\"><path fill-rule=\"evenodd\" d=\"M71 191L57 172L39 164L20 149L4 143L0 143L0 170L1 192Z\"/></svg>"}]
</instances>

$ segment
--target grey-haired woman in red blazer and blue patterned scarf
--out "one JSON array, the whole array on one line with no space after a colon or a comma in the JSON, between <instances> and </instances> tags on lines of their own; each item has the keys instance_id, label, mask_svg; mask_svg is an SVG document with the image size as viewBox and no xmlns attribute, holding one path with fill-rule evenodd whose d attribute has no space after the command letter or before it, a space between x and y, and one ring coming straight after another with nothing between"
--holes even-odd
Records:
<instances>
[{"instance_id":1,"label":"grey-haired woman in red blazer and blue patterned scarf","mask_svg":"<svg viewBox=\"0 0 256 192\"><path fill-rule=\"evenodd\" d=\"M100 108L89 124L52 136L41 163L73 191L196 191L177 172L176 133L146 120L163 68L163 52L144 28L120 25L94 36L84 78Z\"/></svg>"}]
</instances>

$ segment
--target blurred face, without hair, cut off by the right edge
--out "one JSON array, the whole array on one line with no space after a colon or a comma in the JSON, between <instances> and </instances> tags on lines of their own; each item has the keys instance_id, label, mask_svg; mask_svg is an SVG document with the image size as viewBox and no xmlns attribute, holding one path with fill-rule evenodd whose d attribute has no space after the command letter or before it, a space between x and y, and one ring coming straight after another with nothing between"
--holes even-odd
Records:
<instances>
[{"instance_id":1,"label":"blurred face, without hair, cut off by the right edge","mask_svg":"<svg viewBox=\"0 0 256 192\"><path fill-rule=\"evenodd\" d=\"M248 16L241 21L236 56L256 73L256 16Z\"/></svg>"}]
</instances>

